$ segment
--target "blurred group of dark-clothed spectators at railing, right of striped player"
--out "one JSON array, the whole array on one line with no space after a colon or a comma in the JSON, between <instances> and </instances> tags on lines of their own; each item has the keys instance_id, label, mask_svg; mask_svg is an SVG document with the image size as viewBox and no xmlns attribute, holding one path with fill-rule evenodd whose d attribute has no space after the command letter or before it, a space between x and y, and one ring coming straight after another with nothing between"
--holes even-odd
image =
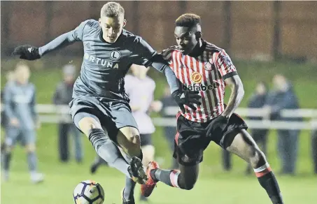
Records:
<instances>
[{"instance_id":1,"label":"blurred group of dark-clothed spectators at railing, right of striped player","mask_svg":"<svg viewBox=\"0 0 317 204\"><path fill-rule=\"evenodd\" d=\"M292 110L300 108L297 96L293 89L293 84L281 74L274 75L272 79L272 90L266 82L258 82L253 96L248 101L248 108L263 108L266 111L262 117L248 117L252 120L270 119L279 122L302 121L301 117L283 117L281 111L284 109ZM269 129L252 129L251 136L267 155L267 136ZM277 152L281 160L280 174L295 175L296 161L298 156L298 145L300 129L277 129ZM314 161L314 173L317 173L317 130L311 133L311 156ZM232 168L231 155L223 150L223 169ZM247 166L246 174L251 173L251 167Z\"/></svg>"}]
</instances>

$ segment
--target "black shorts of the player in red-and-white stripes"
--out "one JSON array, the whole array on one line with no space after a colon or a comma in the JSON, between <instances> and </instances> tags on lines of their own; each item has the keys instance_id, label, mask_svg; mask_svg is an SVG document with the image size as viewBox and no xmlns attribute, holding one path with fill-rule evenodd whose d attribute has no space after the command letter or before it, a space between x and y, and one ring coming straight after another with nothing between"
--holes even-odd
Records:
<instances>
[{"instance_id":1,"label":"black shorts of the player in red-and-white stripes","mask_svg":"<svg viewBox=\"0 0 317 204\"><path fill-rule=\"evenodd\" d=\"M194 166L202 162L203 152L211 141L226 149L231 145L235 136L241 129L248 129L248 126L237 114L232 114L223 134L206 136L206 127L209 122L199 123L185 119L182 115L177 118L177 133L174 144L174 158L184 166Z\"/></svg>"}]
</instances>

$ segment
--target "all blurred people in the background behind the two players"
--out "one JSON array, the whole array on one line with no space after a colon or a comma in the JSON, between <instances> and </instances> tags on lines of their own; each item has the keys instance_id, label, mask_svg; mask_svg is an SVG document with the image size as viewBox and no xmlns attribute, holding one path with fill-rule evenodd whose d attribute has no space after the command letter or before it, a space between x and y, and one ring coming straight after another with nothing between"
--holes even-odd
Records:
<instances>
[{"instance_id":1,"label":"all blurred people in the background behind the two players","mask_svg":"<svg viewBox=\"0 0 317 204\"><path fill-rule=\"evenodd\" d=\"M63 80L58 83L55 93L52 96L52 103L55 105L68 105L72 100L73 83L77 77L77 68L73 64L66 64L63 67ZM129 94L132 112L136 122L140 127L141 143L143 142L144 155L149 155L148 159L153 159L155 149L150 138L154 133L155 126L151 121L150 112L159 112L164 118L174 118L176 115L166 111L167 108L175 107L176 103L171 98L169 87L164 88L164 96L159 101L154 101L155 81L146 74L147 70L139 67L132 68L132 73L125 78L127 85L139 85L137 92L127 92ZM43 181L43 174L37 170L36 156L36 129L40 127L40 120L35 111L36 87L29 82L30 69L27 64L19 63L14 71L6 73L6 87L1 90L1 126L4 129L4 136L1 143L1 163L5 180L9 178L9 168L11 152L17 142L20 142L27 152L29 172L32 182ZM129 87L126 87L128 90ZM151 88L150 88L151 87ZM143 94L143 95L142 95ZM130 96L131 95L131 96ZM144 105L139 105L139 104ZM143 108L146 107L146 108ZM253 96L248 101L248 108L263 108L267 114L258 117L248 117L253 121L263 119L278 120L283 122L302 121L300 117L283 117L281 110L300 108L297 96L294 92L292 83L281 74L274 75L272 79L272 89L266 82L258 82ZM146 124L146 125L144 125ZM83 134L78 131L76 126L69 119L60 117L57 125L58 129L58 155L61 162L70 159L70 147L73 147L73 155L76 162L83 161ZM269 129L252 129L251 135L258 143L262 151L267 154ZM296 162L298 156L298 145L300 129L278 129L277 130L277 152L281 160L281 174L294 175L296 173ZM175 126L164 126L164 137L167 139L169 149L174 151L174 136L176 135ZM72 139L70 139L70 136ZM142 139L143 138L143 139ZM70 145L69 140L73 141ZM143 140L143 141L142 141ZM317 174L317 129L311 132L311 154L314 163L314 173ZM223 169L232 168L232 159L229 152L223 150ZM177 168L177 161L171 158L171 168ZM92 163L92 173L97 170L101 163L100 158ZM252 172L251 166L246 166L246 174Z\"/></svg>"}]
</instances>

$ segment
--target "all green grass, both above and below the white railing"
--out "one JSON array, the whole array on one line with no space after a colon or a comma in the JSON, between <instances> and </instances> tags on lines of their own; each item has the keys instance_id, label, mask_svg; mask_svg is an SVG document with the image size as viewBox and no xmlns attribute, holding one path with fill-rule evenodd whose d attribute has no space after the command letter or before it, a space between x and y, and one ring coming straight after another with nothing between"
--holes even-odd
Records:
<instances>
[{"instance_id":1,"label":"all green grass, both above and below the white railing","mask_svg":"<svg viewBox=\"0 0 317 204\"><path fill-rule=\"evenodd\" d=\"M47 58L49 59L49 58ZM52 93L62 77L61 70L56 67L67 63L68 59L49 59L50 61L29 62L32 66L31 82L37 88L38 103L51 103ZM76 65L80 60L73 59ZM3 70L14 66L15 61L1 60L1 88L5 84ZM312 64L290 64L283 62L255 63L250 61L237 61L235 63L239 75L244 82L246 96L241 103L245 107L251 96L255 83L258 80L270 82L275 73L284 73L295 85L295 92L300 100L301 108L317 108L316 92L316 65ZM45 66L45 69L41 68ZM4 72L5 73L5 72ZM155 99L162 96L164 82L166 81L160 73L150 71L150 75L157 82ZM229 92L227 93L227 98ZM3 134L1 134L3 136ZM120 203L120 191L124 187L125 179L117 170L103 167L97 175L90 175L90 163L94 159L94 150L89 141L83 137L85 145L85 160L82 164L71 161L71 163L59 163L57 158L57 126L54 124L43 124L38 130L38 156L39 169L45 173L43 184L31 184L27 173L27 161L24 150L17 147L13 153L10 181L1 182L1 203L3 204L50 204L50 203L73 203L72 191L76 184L82 180L97 180L106 192L105 203ZM167 151L167 142L163 138L163 131L157 128L153 135L156 147L156 156L163 168L169 166L171 152ZM278 176L281 190L288 204L312 204L317 201L317 178L313 175L312 159L310 154L310 132L302 131L300 135L300 148L297 160L296 177ZM270 203L266 192L257 179L245 176L245 163L237 156L233 157L233 169L230 173L223 172L221 168L221 150L218 146L211 144L204 152L201 174L197 185L192 191L182 191L158 184L157 189L150 197L155 203ZM275 172L280 169L280 161L276 152L276 132L269 135L267 158ZM136 191L136 195L139 191Z\"/></svg>"}]
</instances>

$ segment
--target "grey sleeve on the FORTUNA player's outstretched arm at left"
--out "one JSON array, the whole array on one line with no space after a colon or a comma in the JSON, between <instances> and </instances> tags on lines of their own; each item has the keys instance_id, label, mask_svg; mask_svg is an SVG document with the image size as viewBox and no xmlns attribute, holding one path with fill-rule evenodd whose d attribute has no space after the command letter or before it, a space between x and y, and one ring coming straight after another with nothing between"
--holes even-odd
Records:
<instances>
[{"instance_id":1,"label":"grey sleeve on the FORTUNA player's outstretched arm at left","mask_svg":"<svg viewBox=\"0 0 317 204\"><path fill-rule=\"evenodd\" d=\"M78 27L76 27L76 29L69 31L66 34L62 34L61 36L58 36L54 40L50 41L50 43L38 48L38 53L43 56L48 52L64 48L67 45L75 43L76 41L83 41L83 32L88 21L89 20L81 22Z\"/></svg>"}]
</instances>

